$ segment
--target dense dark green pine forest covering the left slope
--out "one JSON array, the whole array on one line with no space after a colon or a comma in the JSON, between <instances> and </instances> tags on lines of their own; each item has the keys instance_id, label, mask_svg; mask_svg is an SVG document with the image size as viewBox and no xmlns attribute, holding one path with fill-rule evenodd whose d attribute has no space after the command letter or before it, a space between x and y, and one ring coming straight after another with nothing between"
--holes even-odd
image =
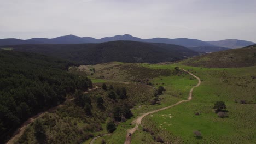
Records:
<instances>
[{"instance_id":1,"label":"dense dark green pine forest covering the left slope","mask_svg":"<svg viewBox=\"0 0 256 144\"><path fill-rule=\"evenodd\" d=\"M0 143L28 117L62 103L76 89L92 87L87 77L67 73L73 64L33 53L0 51Z\"/></svg>"}]
</instances>

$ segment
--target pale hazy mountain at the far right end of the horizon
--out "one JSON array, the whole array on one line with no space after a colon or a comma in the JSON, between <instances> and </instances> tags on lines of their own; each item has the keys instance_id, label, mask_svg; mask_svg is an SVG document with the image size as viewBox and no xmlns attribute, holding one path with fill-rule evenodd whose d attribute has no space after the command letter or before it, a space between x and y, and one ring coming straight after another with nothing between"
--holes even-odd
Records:
<instances>
[{"instance_id":1,"label":"pale hazy mountain at the far right end of the horizon","mask_svg":"<svg viewBox=\"0 0 256 144\"><path fill-rule=\"evenodd\" d=\"M219 40L219 41L206 41L207 43L220 46L220 47L228 47L228 48L241 48L249 45L254 45L252 41L246 41L246 40L238 40L238 39L225 39L225 40Z\"/></svg>"}]
</instances>

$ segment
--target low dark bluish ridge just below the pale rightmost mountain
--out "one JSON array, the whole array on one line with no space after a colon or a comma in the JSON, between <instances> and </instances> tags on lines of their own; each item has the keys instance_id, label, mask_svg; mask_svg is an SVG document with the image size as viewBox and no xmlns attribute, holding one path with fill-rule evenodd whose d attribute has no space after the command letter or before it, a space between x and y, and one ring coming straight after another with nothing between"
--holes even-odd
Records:
<instances>
[{"instance_id":1,"label":"low dark bluish ridge just below the pale rightmost mountain","mask_svg":"<svg viewBox=\"0 0 256 144\"><path fill-rule=\"evenodd\" d=\"M219 46L198 46L198 47L188 47L188 48L196 52L217 52L217 51L229 50L229 48L219 47Z\"/></svg>"}]
</instances>

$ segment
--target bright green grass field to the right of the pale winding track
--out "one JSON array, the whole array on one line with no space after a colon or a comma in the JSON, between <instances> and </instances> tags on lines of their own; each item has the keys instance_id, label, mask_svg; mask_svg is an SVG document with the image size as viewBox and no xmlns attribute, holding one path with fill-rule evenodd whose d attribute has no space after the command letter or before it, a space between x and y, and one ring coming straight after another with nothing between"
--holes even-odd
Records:
<instances>
[{"instance_id":1,"label":"bright green grass field to the right of the pale winding track","mask_svg":"<svg viewBox=\"0 0 256 144\"><path fill-rule=\"evenodd\" d=\"M166 67L168 65L163 66ZM147 124L151 124L149 127L156 125L157 130L162 130L162 133L181 137L182 143L254 143L256 82L251 76L255 75L256 67L239 69L181 67L193 69L193 73L203 80L200 87L195 88L193 100L148 116L143 121L145 127L148 126ZM177 88L181 87L177 86ZM237 101L243 99L251 104L235 103L235 99ZM228 118L219 118L214 113L212 107L218 100L225 101L229 111ZM201 112L200 116L195 116L197 111ZM170 118L169 115L173 117ZM194 137L194 130L201 131L202 139ZM174 140L177 139L173 139L172 142Z\"/></svg>"}]
</instances>

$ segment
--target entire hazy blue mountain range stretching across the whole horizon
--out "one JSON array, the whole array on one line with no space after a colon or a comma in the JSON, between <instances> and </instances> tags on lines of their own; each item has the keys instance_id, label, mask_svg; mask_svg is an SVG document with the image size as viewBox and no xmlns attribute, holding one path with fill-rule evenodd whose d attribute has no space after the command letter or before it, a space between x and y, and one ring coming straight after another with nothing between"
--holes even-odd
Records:
<instances>
[{"instance_id":1,"label":"entire hazy blue mountain range stretching across the whole horizon","mask_svg":"<svg viewBox=\"0 0 256 144\"><path fill-rule=\"evenodd\" d=\"M95 39L91 37L78 37L75 35L65 35L53 39L48 38L32 38L27 40L21 39L0 39L0 46L3 45L18 45L18 44L85 44L85 43L104 43L108 41L117 40L129 40L129 41L141 41L148 43L165 43L181 45L185 47L227 47L227 48L239 48L248 45L255 44L251 41L245 40L221 40L221 41L202 41L198 39L188 39L188 38L152 38L152 39L141 39L133 37L132 35L115 35L114 37L105 37L101 39Z\"/></svg>"}]
</instances>

